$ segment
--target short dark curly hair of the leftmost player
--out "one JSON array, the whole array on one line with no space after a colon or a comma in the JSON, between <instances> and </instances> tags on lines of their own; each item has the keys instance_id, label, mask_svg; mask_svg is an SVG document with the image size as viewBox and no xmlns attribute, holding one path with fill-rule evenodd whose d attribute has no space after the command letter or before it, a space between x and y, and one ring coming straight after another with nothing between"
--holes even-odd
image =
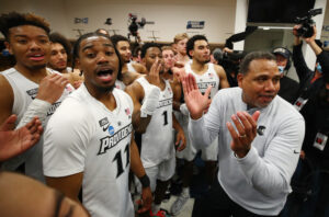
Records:
<instances>
[{"instance_id":1,"label":"short dark curly hair of the leftmost player","mask_svg":"<svg viewBox=\"0 0 329 217\"><path fill-rule=\"evenodd\" d=\"M21 25L34 25L41 27L47 35L49 35L50 32L49 23L47 23L44 18L33 13L18 13L13 11L0 15L0 32L4 35L7 42L9 42L9 30Z\"/></svg>"}]
</instances>

